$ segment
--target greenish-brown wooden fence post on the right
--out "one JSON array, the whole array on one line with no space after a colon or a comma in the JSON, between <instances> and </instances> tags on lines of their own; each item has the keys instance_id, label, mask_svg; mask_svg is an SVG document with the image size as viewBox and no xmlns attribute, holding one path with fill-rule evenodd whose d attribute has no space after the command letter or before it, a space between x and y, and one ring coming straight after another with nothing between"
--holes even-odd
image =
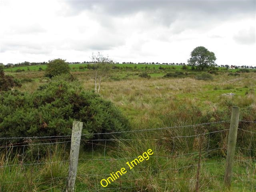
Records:
<instances>
[{"instance_id":1,"label":"greenish-brown wooden fence post on the right","mask_svg":"<svg viewBox=\"0 0 256 192\"><path fill-rule=\"evenodd\" d=\"M230 129L228 134L228 152L227 152L227 159L226 159L226 171L225 171L225 177L224 177L224 182L228 188L230 188L231 186L233 160L234 160L235 148L236 148L238 120L239 120L239 107L232 106Z\"/></svg>"}]
</instances>

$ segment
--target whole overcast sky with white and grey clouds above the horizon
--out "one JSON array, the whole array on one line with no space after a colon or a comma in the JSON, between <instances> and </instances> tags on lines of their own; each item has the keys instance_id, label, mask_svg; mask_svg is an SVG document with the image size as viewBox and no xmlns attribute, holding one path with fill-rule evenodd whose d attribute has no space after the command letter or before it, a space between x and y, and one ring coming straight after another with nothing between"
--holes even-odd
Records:
<instances>
[{"instance_id":1,"label":"whole overcast sky with white and grey clouds above the horizon","mask_svg":"<svg viewBox=\"0 0 256 192\"><path fill-rule=\"evenodd\" d=\"M187 62L196 46L216 63L256 66L256 1L0 0L0 62Z\"/></svg>"}]
</instances>

